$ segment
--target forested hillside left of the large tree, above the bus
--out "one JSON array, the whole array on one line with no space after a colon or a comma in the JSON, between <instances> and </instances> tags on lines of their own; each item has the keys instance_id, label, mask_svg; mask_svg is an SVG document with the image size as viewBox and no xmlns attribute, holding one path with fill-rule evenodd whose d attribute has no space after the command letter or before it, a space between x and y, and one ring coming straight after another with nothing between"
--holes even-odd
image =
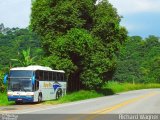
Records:
<instances>
[{"instance_id":1,"label":"forested hillside left of the large tree, above the bus","mask_svg":"<svg viewBox=\"0 0 160 120\"><path fill-rule=\"evenodd\" d=\"M14 66L11 59L21 57L22 50L31 49L31 55L40 55L41 45L38 37L28 29L11 28L7 32L0 32L0 70Z\"/></svg>"}]
</instances>

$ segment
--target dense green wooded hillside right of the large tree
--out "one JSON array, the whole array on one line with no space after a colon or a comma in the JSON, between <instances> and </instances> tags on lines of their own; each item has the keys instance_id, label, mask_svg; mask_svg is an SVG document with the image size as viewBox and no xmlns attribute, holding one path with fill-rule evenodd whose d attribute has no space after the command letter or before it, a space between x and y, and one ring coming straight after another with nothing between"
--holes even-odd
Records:
<instances>
[{"instance_id":1,"label":"dense green wooded hillside right of the large tree","mask_svg":"<svg viewBox=\"0 0 160 120\"><path fill-rule=\"evenodd\" d=\"M114 80L130 83L160 83L160 41L149 36L130 37L117 57Z\"/></svg>"}]
</instances>

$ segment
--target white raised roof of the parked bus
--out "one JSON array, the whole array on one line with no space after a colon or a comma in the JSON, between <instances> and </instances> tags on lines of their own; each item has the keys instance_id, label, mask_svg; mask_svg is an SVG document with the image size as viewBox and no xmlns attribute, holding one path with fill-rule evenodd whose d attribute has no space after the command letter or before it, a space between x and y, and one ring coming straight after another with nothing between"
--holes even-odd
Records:
<instances>
[{"instance_id":1,"label":"white raised roof of the parked bus","mask_svg":"<svg viewBox=\"0 0 160 120\"><path fill-rule=\"evenodd\" d=\"M39 66L39 65L32 65L32 66L27 66L27 67L15 67L15 68L11 68L10 70L31 70L31 71L44 70L44 71L65 73L63 70L52 70L50 67L44 67L44 66Z\"/></svg>"}]
</instances>

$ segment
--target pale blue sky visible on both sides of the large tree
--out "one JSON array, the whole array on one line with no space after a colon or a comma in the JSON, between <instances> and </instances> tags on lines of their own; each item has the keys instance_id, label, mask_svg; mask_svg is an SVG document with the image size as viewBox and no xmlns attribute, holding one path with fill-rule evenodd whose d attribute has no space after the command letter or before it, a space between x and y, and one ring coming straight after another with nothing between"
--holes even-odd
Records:
<instances>
[{"instance_id":1,"label":"pale blue sky visible on both sides of the large tree","mask_svg":"<svg viewBox=\"0 0 160 120\"><path fill-rule=\"evenodd\" d=\"M109 0L118 14L121 25L129 35L160 36L160 0ZM31 0L0 0L0 23L5 27L25 28L29 25Z\"/></svg>"}]
</instances>

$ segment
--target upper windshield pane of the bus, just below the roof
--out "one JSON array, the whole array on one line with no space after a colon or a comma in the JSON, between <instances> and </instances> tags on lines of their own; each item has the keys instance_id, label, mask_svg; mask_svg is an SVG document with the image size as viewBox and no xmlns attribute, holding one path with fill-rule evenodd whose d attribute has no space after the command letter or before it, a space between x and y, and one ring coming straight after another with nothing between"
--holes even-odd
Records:
<instances>
[{"instance_id":1,"label":"upper windshield pane of the bus, just below the roof","mask_svg":"<svg viewBox=\"0 0 160 120\"><path fill-rule=\"evenodd\" d=\"M33 71L29 70L11 70L10 71L10 77L32 77Z\"/></svg>"}]
</instances>

